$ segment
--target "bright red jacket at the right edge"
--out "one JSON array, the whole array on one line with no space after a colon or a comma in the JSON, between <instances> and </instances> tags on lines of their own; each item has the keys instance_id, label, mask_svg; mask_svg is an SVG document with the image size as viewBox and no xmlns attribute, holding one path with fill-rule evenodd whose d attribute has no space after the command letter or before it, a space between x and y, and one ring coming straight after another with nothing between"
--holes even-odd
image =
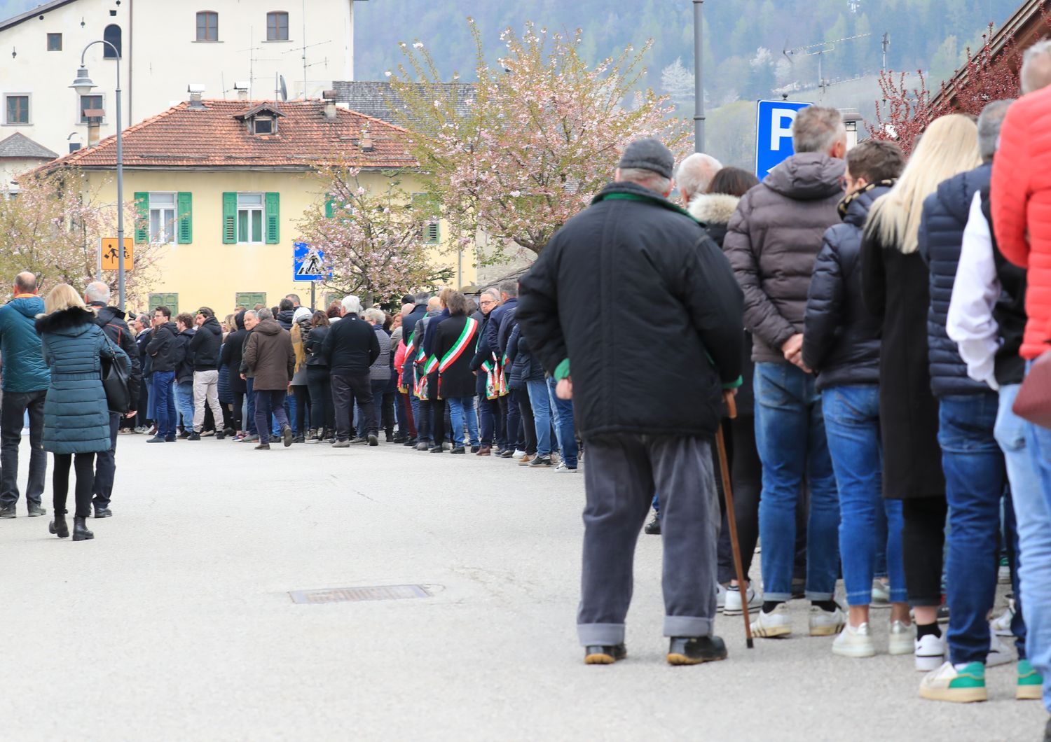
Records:
<instances>
[{"instance_id":1,"label":"bright red jacket at the right edge","mask_svg":"<svg viewBox=\"0 0 1051 742\"><path fill-rule=\"evenodd\" d=\"M1051 87L1023 96L1007 111L992 164L996 246L1028 270L1023 358L1051 349Z\"/></svg>"}]
</instances>

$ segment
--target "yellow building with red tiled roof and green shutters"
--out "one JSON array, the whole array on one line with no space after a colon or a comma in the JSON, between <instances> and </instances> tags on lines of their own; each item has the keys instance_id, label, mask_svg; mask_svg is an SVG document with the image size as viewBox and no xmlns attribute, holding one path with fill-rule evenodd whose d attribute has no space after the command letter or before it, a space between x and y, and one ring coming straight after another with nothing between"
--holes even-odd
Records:
<instances>
[{"instance_id":1,"label":"yellow building with red tiled roof and green shutters","mask_svg":"<svg viewBox=\"0 0 1051 742\"><path fill-rule=\"evenodd\" d=\"M414 186L416 163L406 132L325 101L190 101L147 119L123 134L124 198L138 218L126 224L140 247L159 259L149 304L220 316L235 304L276 305L287 294L309 303L310 283L293 280L293 242L304 212L324 198L313 164L362 169L366 188ZM115 203L116 139L78 150L47 166L77 168L88 191ZM442 225L425 230L436 268L458 285L475 280L473 267L439 251ZM413 287L407 287L413 289ZM317 304L326 290L317 287ZM129 309L145 311L141 302Z\"/></svg>"}]
</instances>

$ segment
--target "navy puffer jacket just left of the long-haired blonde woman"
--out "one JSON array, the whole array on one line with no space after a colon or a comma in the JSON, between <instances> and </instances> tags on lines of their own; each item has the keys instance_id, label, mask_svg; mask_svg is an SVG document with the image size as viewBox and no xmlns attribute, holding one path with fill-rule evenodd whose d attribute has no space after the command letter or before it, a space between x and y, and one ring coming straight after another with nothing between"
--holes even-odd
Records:
<instances>
[{"instance_id":1,"label":"navy puffer jacket just left of the long-haired blonde woman","mask_svg":"<svg viewBox=\"0 0 1051 742\"><path fill-rule=\"evenodd\" d=\"M825 232L803 318L803 362L818 374L819 389L880 383L882 322L861 298L861 239L872 202L891 186L873 183L844 198L843 224Z\"/></svg>"}]
</instances>

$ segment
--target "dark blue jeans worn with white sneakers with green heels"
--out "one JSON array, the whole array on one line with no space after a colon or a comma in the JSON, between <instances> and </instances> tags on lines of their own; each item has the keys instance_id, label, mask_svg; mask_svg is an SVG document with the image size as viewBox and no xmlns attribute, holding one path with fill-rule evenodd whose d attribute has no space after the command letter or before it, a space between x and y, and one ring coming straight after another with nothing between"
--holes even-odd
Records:
<instances>
[{"instance_id":1,"label":"dark blue jeans worn with white sneakers with green heels","mask_svg":"<svg viewBox=\"0 0 1051 742\"><path fill-rule=\"evenodd\" d=\"M993 438L1000 399L992 391L948 395L939 402L945 499L949 505L949 659L985 662L988 614L996 597L1000 502L1006 472Z\"/></svg>"}]
</instances>

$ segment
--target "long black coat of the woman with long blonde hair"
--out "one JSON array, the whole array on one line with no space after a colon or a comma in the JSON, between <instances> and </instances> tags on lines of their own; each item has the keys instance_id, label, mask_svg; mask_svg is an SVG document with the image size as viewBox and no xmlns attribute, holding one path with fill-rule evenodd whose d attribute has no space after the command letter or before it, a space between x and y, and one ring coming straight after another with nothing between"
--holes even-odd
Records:
<instances>
[{"instance_id":1,"label":"long black coat of the woman with long blonde hair","mask_svg":"<svg viewBox=\"0 0 1051 742\"><path fill-rule=\"evenodd\" d=\"M880 434L883 496L944 497L937 401L927 362L927 266L867 231L861 246L862 298L882 320Z\"/></svg>"}]
</instances>

